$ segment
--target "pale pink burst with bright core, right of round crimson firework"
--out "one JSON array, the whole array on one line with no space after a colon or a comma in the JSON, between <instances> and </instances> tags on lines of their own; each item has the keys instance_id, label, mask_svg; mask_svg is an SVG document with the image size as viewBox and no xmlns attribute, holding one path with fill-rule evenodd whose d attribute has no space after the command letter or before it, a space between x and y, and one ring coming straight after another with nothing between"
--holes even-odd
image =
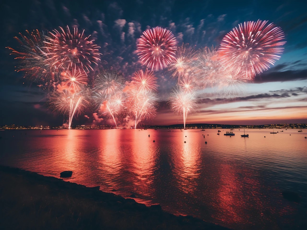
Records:
<instances>
[{"instance_id":1,"label":"pale pink burst with bright core, right of round crimson firework","mask_svg":"<svg viewBox=\"0 0 307 230\"><path fill-rule=\"evenodd\" d=\"M175 60L169 65L169 72L172 73L173 78L179 80L189 78L192 71L192 62L196 59L196 51L189 47L189 44L182 44L175 53Z\"/></svg>"}]
</instances>

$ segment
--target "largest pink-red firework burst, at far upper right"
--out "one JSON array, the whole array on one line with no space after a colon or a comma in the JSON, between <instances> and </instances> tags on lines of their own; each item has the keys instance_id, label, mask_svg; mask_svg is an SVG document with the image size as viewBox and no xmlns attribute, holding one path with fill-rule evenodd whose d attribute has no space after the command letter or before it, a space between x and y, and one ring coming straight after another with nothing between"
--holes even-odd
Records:
<instances>
[{"instance_id":1,"label":"largest pink-red firework burst, at far upper right","mask_svg":"<svg viewBox=\"0 0 307 230\"><path fill-rule=\"evenodd\" d=\"M239 66L247 80L270 68L280 58L286 43L284 33L267 21L247 21L239 24L223 38L219 49L224 67Z\"/></svg>"}]
</instances>

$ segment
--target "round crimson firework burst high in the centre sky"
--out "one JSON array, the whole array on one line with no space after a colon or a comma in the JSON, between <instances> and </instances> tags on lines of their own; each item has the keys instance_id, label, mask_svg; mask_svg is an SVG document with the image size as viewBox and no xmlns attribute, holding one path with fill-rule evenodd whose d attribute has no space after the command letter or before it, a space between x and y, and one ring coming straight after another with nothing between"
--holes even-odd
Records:
<instances>
[{"instance_id":1,"label":"round crimson firework burst high in the centre sky","mask_svg":"<svg viewBox=\"0 0 307 230\"><path fill-rule=\"evenodd\" d=\"M177 41L172 32L159 26L147 29L138 41L141 62L151 70L162 70L175 60Z\"/></svg>"}]
</instances>

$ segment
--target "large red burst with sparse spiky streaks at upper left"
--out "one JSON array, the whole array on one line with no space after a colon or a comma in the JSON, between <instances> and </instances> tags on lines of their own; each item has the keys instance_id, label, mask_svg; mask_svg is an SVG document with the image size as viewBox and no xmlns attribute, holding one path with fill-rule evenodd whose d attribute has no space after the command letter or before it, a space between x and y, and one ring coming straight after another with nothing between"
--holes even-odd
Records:
<instances>
[{"instance_id":1,"label":"large red burst with sparse spiky streaks at upper left","mask_svg":"<svg viewBox=\"0 0 307 230\"><path fill-rule=\"evenodd\" d=\"M91 35L85 37L84 30L78 33L78 28L74 28L71 33L68 26L66 32L62 27L53 32L49 32L50 37L46 37L48 41L45 42L48 45L47 56L53 61L53 65L66 68L77 65L87 72L93 70L92 64L98 65L100 47L93 43L94 40L90 40Z\"/></svg>"}]
</instances>

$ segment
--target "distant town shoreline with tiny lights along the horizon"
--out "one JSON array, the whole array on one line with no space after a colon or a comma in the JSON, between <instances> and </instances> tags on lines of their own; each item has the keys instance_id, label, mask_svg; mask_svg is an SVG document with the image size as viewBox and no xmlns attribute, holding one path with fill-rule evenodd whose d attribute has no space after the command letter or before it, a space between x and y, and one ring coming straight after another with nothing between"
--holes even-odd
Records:
<instances>
[{"instance_id":1,"label":"distant town shoreline with tiny lights along the horizon","mask_svg":"<svg viewBox=\"0 0 307 230\"><path fill-rule=\"evenodd\" d=\"M23 126L23 125L4 125L0 127L1 130L4 129L67 129L65 126ZM113 129L114 126L111 125L76 125L72 129ZM131 127L133 128L133 127ZM140 125L139 128L154 128L154 129L180 129L183 128L183 124L176 125ZM187 124L187 129L192 128L217 128L217 129L228 129L228 128L307 128L307 124L270 124L270 125L221 125L221 124Z\"/></svg>"}]
</instances>

